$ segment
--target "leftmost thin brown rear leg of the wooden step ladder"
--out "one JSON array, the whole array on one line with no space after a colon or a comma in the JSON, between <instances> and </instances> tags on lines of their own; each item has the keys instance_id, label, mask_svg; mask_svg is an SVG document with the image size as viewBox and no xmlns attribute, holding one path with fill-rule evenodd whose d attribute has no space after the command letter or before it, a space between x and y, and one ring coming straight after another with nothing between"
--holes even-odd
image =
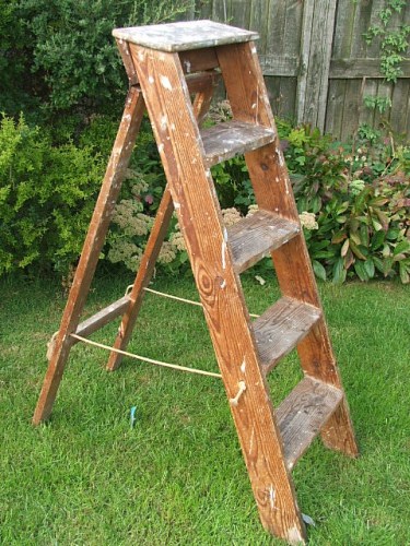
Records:
<instances>
[{"instance_id":1,"label":"leftmost thin brown rear leg of the wooden step ladder","mask_svg":"<svg viewBox=\"0 0 410 546\"><path fill-rule=\"evenodd\" d=\"M54 351L50 355L43 389L33 417L35 425L47 419L51 413L72 345L70 334L75 331L79 324L80 314L90 290L99 252L104 245L113 210L131 156L144 109L141 93L136 87L131 87L127 96L118 134L75 271Z\"/></svg>"}]
</instances>

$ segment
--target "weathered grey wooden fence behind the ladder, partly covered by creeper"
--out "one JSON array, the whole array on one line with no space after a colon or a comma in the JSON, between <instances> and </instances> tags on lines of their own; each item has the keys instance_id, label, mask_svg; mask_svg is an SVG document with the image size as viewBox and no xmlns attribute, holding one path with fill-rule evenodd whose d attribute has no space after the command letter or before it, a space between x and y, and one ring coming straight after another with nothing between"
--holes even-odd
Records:
<instances>
[{"instance_id":1,"label":"weathered grey wooden fence behind the ladder, partly covered by creeper","mask_svg":"<svg viewBox=\"0 0 410 546\"><path fill-rule=\"evenodd\" d=\"M410 59L396 84L384 81L379 43L363 33L378 23L385 0L196 0L191 19L211 19L257 31L258 52L273 111L308 121L337 138L382 118L410 136ZM410 25L410 2L391 20ZM380 115L364 97L386 96Z\"/></svg>"}]
</instances>

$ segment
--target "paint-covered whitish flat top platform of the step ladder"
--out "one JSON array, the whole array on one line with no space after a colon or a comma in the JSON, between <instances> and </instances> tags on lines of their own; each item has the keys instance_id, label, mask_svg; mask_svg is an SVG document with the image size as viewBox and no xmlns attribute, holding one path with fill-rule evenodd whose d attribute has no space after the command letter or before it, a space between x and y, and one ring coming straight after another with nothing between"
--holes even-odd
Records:
<instances>
[{"instance_id":1,"label":"paint-covered whitish flat top platform of the step ladder","mask_svg":"<svg viewBox=\"0 0 410 546\"><path fill-rule=\"evenodd\" d=\"M185 51L259 38L255 32L207 20L115 28L113 36L161 51Z\"/></svg>"}]
</instances>

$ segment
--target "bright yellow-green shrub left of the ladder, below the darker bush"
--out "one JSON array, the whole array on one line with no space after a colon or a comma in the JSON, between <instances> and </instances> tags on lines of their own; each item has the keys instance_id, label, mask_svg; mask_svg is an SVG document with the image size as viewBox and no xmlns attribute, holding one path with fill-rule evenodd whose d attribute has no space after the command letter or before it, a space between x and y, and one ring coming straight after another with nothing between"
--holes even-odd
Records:
<instances>
[{"instance_id":1,"label":"bright yellow-green shrub left of the ladder, below the darker bush","mask_svg":"<svg viewBox=\"0 0 410 546\"><path fill-rule=\"evenodd\" d=\"M24 118L0 126L0 274L66 272L81 251L104 166L87 147L52 146Z\"/></svg>"}]
</instances>

